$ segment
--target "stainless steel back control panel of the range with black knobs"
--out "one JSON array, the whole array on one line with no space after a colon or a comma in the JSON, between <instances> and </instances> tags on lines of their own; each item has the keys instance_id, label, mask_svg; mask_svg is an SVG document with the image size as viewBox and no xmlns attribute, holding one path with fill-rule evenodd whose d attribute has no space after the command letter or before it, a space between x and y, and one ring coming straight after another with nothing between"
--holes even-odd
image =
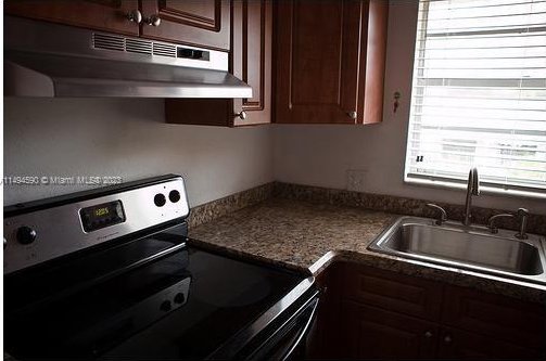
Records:
<instances>
[{"instance_id":1,"label":"stainless steel back control panel of the range with black knobs","mask_svg":"<svg viewBox=\"0 0 546 361\"><path fill-rule=\"evenodd\" d=\"M189 215L181 177L4 218L4 274ZM25 205L21 206L22 209ZM31 207L29 207L31 208Z\"/></svg>"}]
</instances>

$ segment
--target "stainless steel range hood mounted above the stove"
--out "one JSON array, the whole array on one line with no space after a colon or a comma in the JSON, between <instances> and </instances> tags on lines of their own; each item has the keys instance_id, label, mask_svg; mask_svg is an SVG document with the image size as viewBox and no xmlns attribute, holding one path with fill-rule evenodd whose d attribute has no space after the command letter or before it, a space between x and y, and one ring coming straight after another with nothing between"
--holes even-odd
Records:
<instances>
[{"instance_id":1,"label":"stainless steel range hood mounted above the stove","mask_svg":"<svg viewBox=\"0 0 546 361\"><path fill-rule=\"evenodd\" d=\"M5 96L252 98L228 53L4 17Z\"/></svg>"}]
</instances>

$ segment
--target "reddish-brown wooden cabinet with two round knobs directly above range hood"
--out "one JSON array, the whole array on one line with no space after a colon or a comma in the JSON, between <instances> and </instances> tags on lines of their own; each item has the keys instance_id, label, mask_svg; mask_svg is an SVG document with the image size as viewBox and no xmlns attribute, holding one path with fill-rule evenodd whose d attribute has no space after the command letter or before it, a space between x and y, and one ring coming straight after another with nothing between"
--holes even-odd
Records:
<instances>
[{"instance_id":1,"label":"reddish-brown wooden cabinet with two round knobs directly above range hood","mask_svg":"<svg viewBox=\"0 0 546 361\"><path fill-rule=\"evenodd\" d=\"M139 15L131 20L135 12ZM195 47L230 48L230 0L8 0L5 13Z\"/></svg>"}]
</instances>

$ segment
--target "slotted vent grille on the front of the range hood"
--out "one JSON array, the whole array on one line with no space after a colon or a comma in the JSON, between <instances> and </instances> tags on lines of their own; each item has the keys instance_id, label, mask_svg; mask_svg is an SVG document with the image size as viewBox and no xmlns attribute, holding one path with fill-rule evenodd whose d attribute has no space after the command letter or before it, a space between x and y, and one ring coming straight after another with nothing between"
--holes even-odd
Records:
<instances>
[{"instance_id":1,"label":"slotted vent grille on the front of the range hood","mask_svg":"<svg viewBox=\"0 0 546 361\"><path fill-rule=\"evenodd\" d=\"M129 53L139 53L145 55L177 57L176 46L164 42L155 42L142 39L131 39L106 34L93 34L92 40L94 49L105 49L105 50L125 51Z\"/></svg>"}]
</instances>

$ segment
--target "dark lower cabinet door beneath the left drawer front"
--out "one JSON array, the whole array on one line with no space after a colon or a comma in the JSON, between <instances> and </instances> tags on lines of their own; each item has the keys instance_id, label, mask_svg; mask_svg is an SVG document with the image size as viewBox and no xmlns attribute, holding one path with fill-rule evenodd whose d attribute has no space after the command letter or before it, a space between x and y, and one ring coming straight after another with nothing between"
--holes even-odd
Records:
<instances>
[{"instance_id":1,"label":"dark lower cabinet door beneath the left drawer front","mask_svg":"<svg viewBox=\"0 0 546 361\"><path fill-rule=\"evenodd\" d=\"M439 326L399 313L344 300L342 327L345 354L356 359L433 358Z\"/></svg>"}]
</instances>

